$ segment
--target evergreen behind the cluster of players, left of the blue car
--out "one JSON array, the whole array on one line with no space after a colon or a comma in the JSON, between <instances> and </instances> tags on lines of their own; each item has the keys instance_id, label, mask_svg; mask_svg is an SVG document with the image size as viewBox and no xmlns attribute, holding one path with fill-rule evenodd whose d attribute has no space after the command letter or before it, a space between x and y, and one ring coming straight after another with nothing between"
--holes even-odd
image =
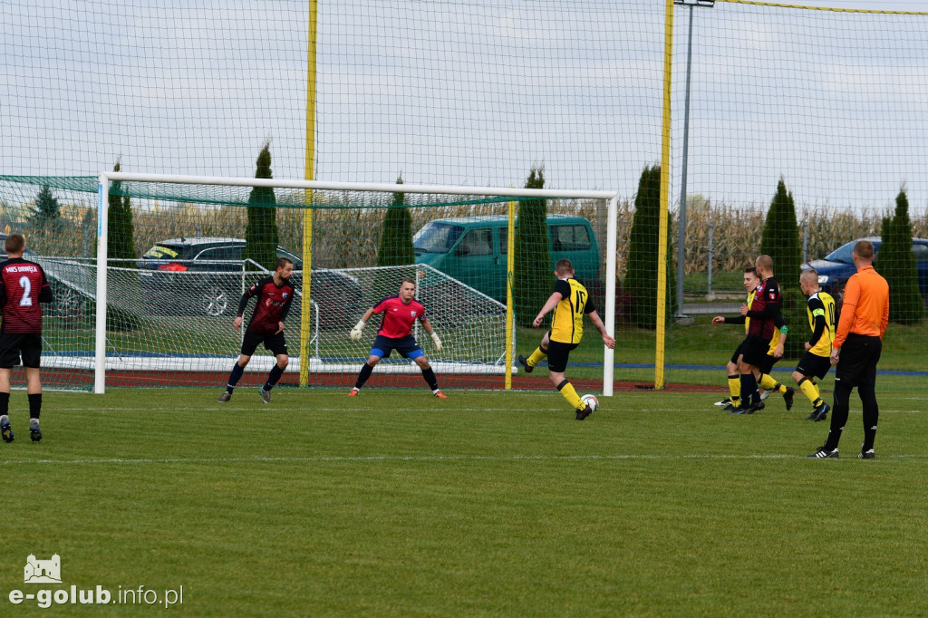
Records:
<instances>
[{"instance_id":1,"label":"evergreen behind the cluster of players, left of the blue car","mask_svg":"<svg viewBox=\"0 0 928 618\"><path fill-rule=\"evenodd\" d=\"M803 246L793 193L786 190L783 178L780 178L777 192L770 201L760 238L760 252L773 258L774 277L780 284L780 315L790 329L783 346L783 356L799 358L805 354L805 342L808 341L806 297L799 288Z\"/></svg>"}]
</instances>

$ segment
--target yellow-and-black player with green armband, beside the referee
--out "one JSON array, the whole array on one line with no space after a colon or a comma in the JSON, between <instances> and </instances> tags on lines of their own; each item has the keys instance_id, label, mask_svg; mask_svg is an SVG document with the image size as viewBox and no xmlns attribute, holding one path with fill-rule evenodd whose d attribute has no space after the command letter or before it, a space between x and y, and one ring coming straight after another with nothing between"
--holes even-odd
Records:
<instances>
[{"instance_id":1,"label":"yellow-and-black player with green armband, beside the referee","mask_svg":"<svg viewBox=\"0 0 928 618\"><path fill-rule=\"evenodd\" d=\"M831 341L834 341L835 308L831 294L818 286L818 272L812 268L803 271L799 287L808 297L806 314L812 337L806 341L806 354L793 371L793 380L812 403L812 414L806 420L825 420L831 409L822 401L815 379L821 380L831 368Z\"/></svg>"}]
</instances>

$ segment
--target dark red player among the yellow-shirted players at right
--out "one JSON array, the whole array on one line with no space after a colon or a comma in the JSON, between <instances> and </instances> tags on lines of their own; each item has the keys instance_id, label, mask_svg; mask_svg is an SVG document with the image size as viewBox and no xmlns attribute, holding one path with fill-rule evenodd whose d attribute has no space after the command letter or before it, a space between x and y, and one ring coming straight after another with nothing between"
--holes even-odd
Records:
<instances>
[{"instance_id":1,"label":"dark red player among the yellow-shirted players at right","mask_svg":"<svg viewBox=\"0 0 928 618\"><path fill-rule=\"evenodd\" d=\"M751 308L746 304L741 305L741 315L750 317L751 323L742 344L744 347L738 364L741 373L741 409L736 411L736 414L752 414L764 409L754 373L760 371L760 367L764 367L767 349L774 331L778 329L780 315L780 284L773 277L773 258L761 255L754 260L754 266L757 268L757 276L762 280L754 292Z\"/></svg>"}]
</instances>

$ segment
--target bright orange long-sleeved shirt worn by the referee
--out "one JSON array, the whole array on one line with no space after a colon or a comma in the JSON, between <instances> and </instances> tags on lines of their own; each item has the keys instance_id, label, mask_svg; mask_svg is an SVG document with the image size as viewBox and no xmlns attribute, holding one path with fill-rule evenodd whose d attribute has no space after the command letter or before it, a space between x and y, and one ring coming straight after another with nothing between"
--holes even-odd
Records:
<instances>
[{"instance_id":1,"label":"bright orange long-sleeved shirt worn by the referee","mask_svg":"<svg viewBox=\"0 0 928 618\"><path fill-rule=\"evenodd\" d=\"M873 266L861 266L844 286L841 319L831 345L840 348L851 333L882 339L888 322L889 284Z\"/></svg>"}]
</instances>

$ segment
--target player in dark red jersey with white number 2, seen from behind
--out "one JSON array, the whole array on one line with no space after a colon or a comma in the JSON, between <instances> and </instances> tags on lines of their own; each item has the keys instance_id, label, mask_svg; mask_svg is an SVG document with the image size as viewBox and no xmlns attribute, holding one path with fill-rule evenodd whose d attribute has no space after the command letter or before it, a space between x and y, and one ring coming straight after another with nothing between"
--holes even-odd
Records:
<instances>
[{"instance_id":1,"label":"player in dark red jersey with white number 2, seen from behind","mask_svg":"<svg viewBox=\"0 0 928 618\"><path fill-rule=\"evenodd\" d=\"M4 442L13 442L13 429L9 423L9 378L13 367L26 370L26 393L29 394L29 437L32 442L42 440L39 414L42 412L42 307L39 303L52 302L52 289L48 286L42 266L23 260L26 239L21 234L6 237L6 262L0 264L0 436Z\"/></svg>"}]
</instances>

